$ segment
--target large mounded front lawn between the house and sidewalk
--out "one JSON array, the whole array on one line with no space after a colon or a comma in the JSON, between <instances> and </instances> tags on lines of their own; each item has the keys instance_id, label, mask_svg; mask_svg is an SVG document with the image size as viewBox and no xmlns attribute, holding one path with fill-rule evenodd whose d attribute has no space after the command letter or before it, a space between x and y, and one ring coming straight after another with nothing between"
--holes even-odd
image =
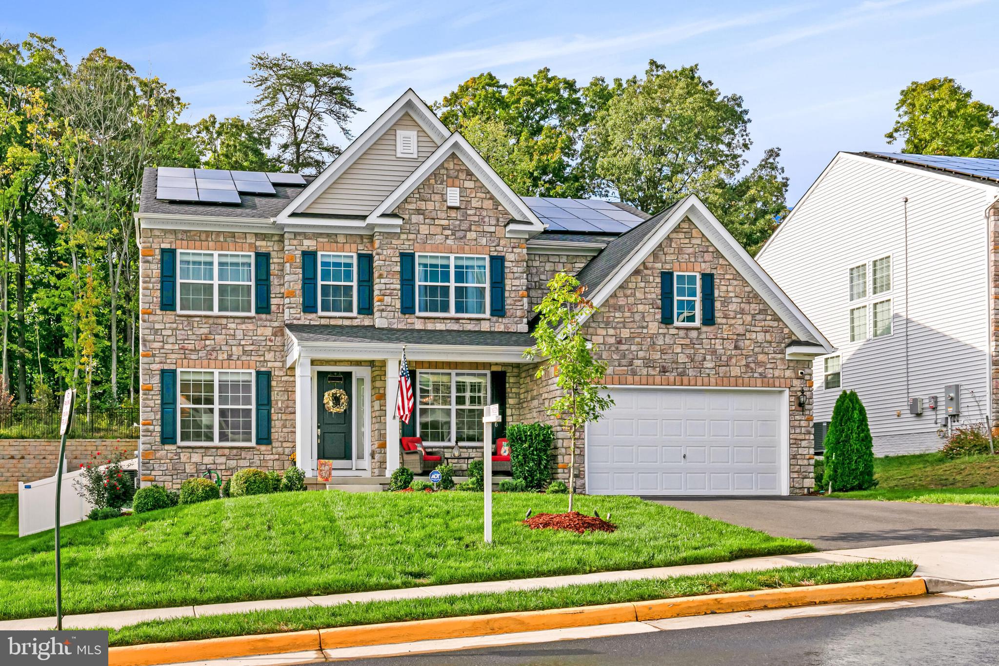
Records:
<instances>
[{"instance_id":1,"label":"large mounded front lawn between the house and sidewalk","mask_svg":"<svg viewBox=\"0 0 999 666\"><path fill-rule=\"evenodd\" d=\"M492 546L479 493L280 493L63 530L67 614L718 562L814 550L635 497L577 496L613 533L531 530L564 495L500 493ZM52 614L51 531L0 542L0 619Z\"/></svg>"}]
</instances>

